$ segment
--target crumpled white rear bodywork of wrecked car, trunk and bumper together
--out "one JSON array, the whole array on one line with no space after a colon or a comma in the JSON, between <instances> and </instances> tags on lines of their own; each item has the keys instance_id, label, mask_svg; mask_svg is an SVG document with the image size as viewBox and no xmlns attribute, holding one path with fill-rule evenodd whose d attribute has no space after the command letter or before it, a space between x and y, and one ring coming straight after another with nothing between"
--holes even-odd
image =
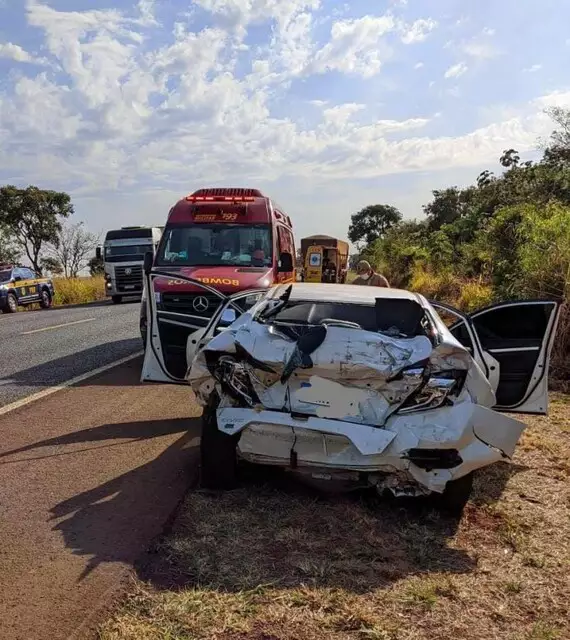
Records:
<instances>
[{"instance_id":1,"label":"crumpled white rear bodywork of wrecked car, trunk and bumper together","mask_svg":"<svg viewBox=\"0 0 570 640\"><path fill-rule=\"evenodd\" d=\"M403 474L402 487L412 482L420 493L441 492L450 480L512 456L524 429L490 409L495 396L489 381L451 336L434 348L424 336L401 339L330 326L310 354L312 366L296 368L283 383L295 349L297 342L274 325L244 314L198 353L190 369L189 382L202 404L218 390L218 428L241 432L240 455L252 462L289 466L294 448L299 467L377 472L379 478ZM239 360L240 376L249 375L257 394L253 406L244 408L216 381L211 369L227 355ZM463 390L453 405L397 413L419 382L414 375L394 376L426 362L434 370L466 370ZM297 413L305 417L295 418ZM425 470L406 459L417 448L457 449L462 463Z\"/></svg>"}]
</instances>

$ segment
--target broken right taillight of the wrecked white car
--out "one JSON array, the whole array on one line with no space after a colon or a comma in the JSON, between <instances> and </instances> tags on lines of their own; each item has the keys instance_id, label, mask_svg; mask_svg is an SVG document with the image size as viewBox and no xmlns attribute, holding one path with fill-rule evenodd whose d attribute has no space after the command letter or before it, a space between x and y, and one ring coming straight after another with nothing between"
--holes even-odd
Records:
<instances>
[{"instance_id":1,"label":"broken right taillight of the wrecked white car","mask_svg":"<svg viewBox=\"0 0 570 640\"><path fill-rule=\"evenodd\" d=\"M438 409L453 401L461 393L467 371L448 369L446 371L430 371L426 369L408 369L403 377L410 377L419 385L402 403L397 413L414 413Z\"/></svg>"}]
</instances>

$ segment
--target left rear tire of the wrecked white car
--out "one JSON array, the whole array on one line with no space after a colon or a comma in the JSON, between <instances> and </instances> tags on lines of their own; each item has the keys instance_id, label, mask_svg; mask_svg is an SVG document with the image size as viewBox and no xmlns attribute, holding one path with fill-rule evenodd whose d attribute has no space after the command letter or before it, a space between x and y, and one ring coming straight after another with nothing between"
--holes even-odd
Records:
<instances>
[{"instance_id":1,"label":"left rear tire of the wrecked white car","mask_svg":"<svg viewBox=\"0 0 570 640\"><path fill-rule=\"evenodd\" d=\"M220 491L233 489L237 484L236 447L239 434L229 436L218 429L216 405L210 402L202 415L200 486Z\"/></svg>"}]
</instances>

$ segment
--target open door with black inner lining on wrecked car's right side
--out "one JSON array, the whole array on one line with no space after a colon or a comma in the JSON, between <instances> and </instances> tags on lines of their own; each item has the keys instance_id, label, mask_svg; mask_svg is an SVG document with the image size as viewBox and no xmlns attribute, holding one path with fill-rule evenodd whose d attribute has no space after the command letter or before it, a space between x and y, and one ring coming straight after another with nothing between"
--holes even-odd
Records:
<instances>
[{"instance_id":1,"label":"open door with black inner lining on wrecked car's right side","mask_svg":"<svg viewBox=\"0 0 570 640\"><path fill-rule=\"evenodd\" d=\"M495 411L547 413L548 369L559 302L504 302L469 315L441 302L430 304L456 317L449 330L489 379L497 399Z\"/></svg>"}]
</instances>

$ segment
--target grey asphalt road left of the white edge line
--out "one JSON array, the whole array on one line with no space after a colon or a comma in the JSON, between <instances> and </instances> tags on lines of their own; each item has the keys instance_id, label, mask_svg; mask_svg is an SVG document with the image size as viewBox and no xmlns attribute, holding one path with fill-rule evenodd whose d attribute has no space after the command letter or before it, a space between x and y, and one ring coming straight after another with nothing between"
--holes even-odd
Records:
<instances>
[{"instance_id":1,"label":"grey asphalt road left of the white edge line","mask_svg":"<svg viewBox=\"0 0 570 640\"><path fill-rule=\"evenodd\" d=\"M0 314L0 407L141 349L139 302Z\"/></svg>"}]
</instances>

